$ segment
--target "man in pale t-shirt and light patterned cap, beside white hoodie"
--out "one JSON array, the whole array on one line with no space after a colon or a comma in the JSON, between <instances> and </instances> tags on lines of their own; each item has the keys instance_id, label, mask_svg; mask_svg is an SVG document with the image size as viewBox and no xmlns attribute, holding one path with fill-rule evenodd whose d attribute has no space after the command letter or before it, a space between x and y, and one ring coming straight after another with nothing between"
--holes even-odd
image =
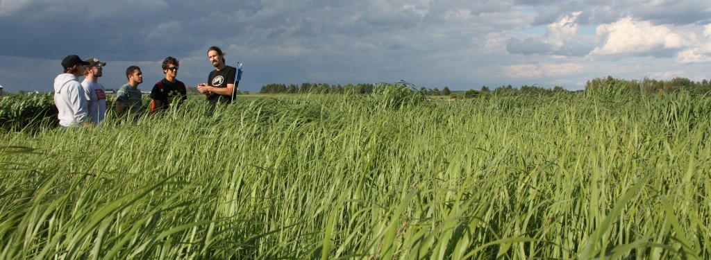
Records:
<instances>
[{"instance_id":1,"label":"man in pale t-shirt and light patterned cap, beside white hoodie","mask_svg":"<svg viewBox=\"0 0 711 260\"><path fill-rule=\"evenodd\" d=\"M103 75L103 67L106 63L97 58L88 58L87 68L84 71L84 81L82 87L87 99L87 109L94 124L99 124L106 117L106 92L104 86L99 84L99 77Z\"/></svg>"}]
</instances>

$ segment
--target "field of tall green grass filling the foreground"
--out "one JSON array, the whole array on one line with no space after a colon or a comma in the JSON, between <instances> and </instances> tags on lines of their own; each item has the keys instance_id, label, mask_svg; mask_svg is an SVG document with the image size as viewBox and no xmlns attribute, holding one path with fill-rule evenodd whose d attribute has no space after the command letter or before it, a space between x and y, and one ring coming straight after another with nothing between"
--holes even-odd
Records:
<instances>
[{"instance_id":1,"label":"field of tall green grass filling the foreground","mask_svg":"<svg viewBox=\"0 0 711 260\"><path fill-rule=\"evenodd\" d=\"M2 131L0 259L710 259L711 97L618 89Z\"/></svg>"}]
</instances>

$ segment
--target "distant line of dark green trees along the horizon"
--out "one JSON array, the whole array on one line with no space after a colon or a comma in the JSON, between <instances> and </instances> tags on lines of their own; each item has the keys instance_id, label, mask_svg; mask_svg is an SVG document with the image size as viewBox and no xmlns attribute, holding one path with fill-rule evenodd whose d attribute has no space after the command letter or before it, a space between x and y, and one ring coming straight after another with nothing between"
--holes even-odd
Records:
<instances>
[{"instance_id":1,"label":"distant line of dark green trees along the horizon","mask_svg":"<svg viewBox=\"0 0 711 260\"><path fill-rule=\"evenodd\" d=\"M262 86L261 94L370 94L373 92L375 84L351 84L346 85L328 85L327 83L309 83L304 82L301 85L285 85L285 84L268 84ZM675 91L685 90L695 94L705 94L711 92L711 82L702 80L695 82L688 78L676 77L672 80L652 80L644 78L643 80L621 80L611 76L599 77L593 80L588 80L585 84L585 91L597 92L638 92L643 94L665 94ZM481 87L479 90L466 91L451 91L445 86L442 90L439 88L420 87L419 92L429 96L462 96L474 97L479 94L505 94L505 93L520 93L520 94L553 94L557 92L572 92L566 90L565 87L555 86L552 88L540 87L537 85L522 85L513 87L512 85L501 85L491 88L487 86Z\"/></svg>"}]
</instances>

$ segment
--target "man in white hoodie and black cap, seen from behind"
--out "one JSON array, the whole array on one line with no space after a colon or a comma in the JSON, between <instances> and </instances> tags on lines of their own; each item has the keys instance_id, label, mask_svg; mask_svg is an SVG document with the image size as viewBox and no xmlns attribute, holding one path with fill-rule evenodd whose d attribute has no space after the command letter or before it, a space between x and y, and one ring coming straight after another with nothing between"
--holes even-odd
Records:
<instances>
[{"instance_id":1,"label":"man in white hoodie and black cap, seen from behind","mask_svg":"<svg viewBox=\"0 0 711 260\"><path fill-rule=\"evenodd\" d=\"M59 124L63 129L80 125L92 126L87 113L84 88L79 83L79 76L89 63L77 55L68 55L62 60L64 73L54 79L54 103L59 110Z\"/></svg>"}]
</instances>

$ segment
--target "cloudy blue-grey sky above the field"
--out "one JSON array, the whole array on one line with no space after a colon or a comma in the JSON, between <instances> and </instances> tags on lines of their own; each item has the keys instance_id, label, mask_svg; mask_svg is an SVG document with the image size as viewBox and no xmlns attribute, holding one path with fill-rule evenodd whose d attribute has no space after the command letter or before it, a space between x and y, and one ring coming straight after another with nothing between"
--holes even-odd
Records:
<instances>
[{"instance_id":1,"label":"cloudy blue-grey sky above the field","mask_svg":"<svg viewBox=\"0 0 711 260\"><path fill-rule=\"evenodd\" d=\"M52 90L70 54L125 70L149 91L161 62L206 82L216 45L243 63L239 88L303 82L393 83L491 90L582 90L597 77L711 78L709 0L0 0L0 85Z\"/></svg>"}]
</instances>

